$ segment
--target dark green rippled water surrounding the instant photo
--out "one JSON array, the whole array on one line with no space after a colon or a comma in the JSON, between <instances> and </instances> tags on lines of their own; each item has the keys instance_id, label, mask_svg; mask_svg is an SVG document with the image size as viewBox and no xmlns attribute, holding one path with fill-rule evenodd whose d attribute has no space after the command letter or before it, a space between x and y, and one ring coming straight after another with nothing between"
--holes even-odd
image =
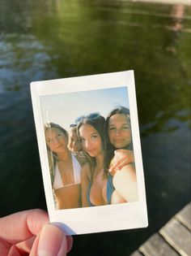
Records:
<instances>
[{"instance_id":1,"label":"dark green rippled water surrounding the instant photo","mask_svg":"<svg viewBox=\"0 0 191 256\"><path fill-rule=\"evenodd\" d=\"M29 84L134 69L149 227L74 236L70 255L129 255L189 202L190 7L0 0L0 215L45 208Z\"/></svg>"}]
</instances>

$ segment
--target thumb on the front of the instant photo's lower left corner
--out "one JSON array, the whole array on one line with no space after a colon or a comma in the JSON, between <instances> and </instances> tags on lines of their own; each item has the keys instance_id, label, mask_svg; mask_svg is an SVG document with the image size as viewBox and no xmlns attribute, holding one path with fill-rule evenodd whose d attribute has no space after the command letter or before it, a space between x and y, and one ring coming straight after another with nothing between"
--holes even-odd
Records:
<instances>
[{"instance_id":1,"label":"thumb on the front of the instant photo's lower left corner","mask_svg":"<svg viewBox=\"0 0 191 256\"><path fill-rule=\"evenodd\" d=\"M37 249L38 256L64 256L66 247L66 236L61 229L52 224L46 224L42 228Z\"/></svg>"}]
</instances>

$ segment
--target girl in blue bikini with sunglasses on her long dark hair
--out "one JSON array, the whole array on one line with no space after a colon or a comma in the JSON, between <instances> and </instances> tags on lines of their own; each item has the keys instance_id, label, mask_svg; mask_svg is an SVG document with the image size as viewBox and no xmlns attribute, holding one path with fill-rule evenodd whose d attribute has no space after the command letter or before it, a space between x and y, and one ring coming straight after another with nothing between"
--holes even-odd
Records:
<instances>
[{"instance_id":1,"label":"girl in blue bikini with sunglasses on her long dark hair","mask_svg":"<svg viewBox=\"0 0 191 256\"><path fill-rule=\"evenodd\" d=\"M112 176L104 170L104 124L99 113L79 119L78 135L89 160L82 170L82 205L103 206L111 203Z\"/></svg>"}]
</instances>

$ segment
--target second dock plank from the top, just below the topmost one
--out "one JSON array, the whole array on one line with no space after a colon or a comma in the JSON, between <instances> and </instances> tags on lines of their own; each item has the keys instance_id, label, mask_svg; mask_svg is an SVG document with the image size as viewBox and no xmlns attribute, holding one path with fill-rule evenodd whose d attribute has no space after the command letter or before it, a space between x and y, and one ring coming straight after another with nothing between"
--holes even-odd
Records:
<instances>
[{"instance_id":1,"label":"second dock plank from the top, just below the topmost one","mask_svg":"<svg viewBox=\"0 0 191 256\"><path fill-rule=\"evenodd\" d=\"M173 218L159 230L169 245L182 256L191 255L191 233L177 219Z\"/></svg>"}]
</instances>

